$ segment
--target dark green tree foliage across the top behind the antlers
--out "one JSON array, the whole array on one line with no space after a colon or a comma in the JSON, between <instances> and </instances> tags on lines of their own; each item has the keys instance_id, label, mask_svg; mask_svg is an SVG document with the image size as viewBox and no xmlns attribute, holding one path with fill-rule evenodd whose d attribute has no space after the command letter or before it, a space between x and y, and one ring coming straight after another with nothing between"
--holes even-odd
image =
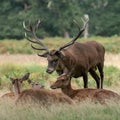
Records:
<instances>
[{"instance_id":1,"label":"dark green tree foliage across the top behind the antlers","mask_svg":"<svg viewBox=\"0 0 120 120\"><path fill-rule=\"evenodd\" d=\"M39 37L73 36L77 32L73 19L82 26L80 17L90 17L90 34L120 34L119 0L1 0L0 38L24 37L22 22L40 19Z\"/></svg>"}]
</instances>

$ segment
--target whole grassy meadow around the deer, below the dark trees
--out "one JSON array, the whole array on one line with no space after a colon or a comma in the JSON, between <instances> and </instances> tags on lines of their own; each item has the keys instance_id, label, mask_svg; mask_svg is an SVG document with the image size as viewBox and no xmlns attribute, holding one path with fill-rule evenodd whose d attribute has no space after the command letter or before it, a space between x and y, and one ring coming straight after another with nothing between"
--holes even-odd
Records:
<instances>
[{"instance_id":1,"label":"whole grassy meadow around the deer, below the dark trees","mask_svg":"<svg viewBox=\"0 0 120 120\"><path fill-rule=\"evenodd\" d=\"M72 39L72 38L71 38ZM54 37L45 38L43 42L50 48L58 48L71 40ZM105 46L105 78L104 88L113 90L120 94L120 37L91 37L89 39L80 38L78 41L84 42L96 40ZM30 43L23 40L1 40L0 41L0 95L12 91L10 77L21 77L26 72L30 72L30 79L40 81L46 89L56 78L54 72L49 75L45 72L47 60L37 56L40 51L31 48ZM72 79L74 89L83 88L82 78ZM23 89L29 88L27 82ZM89 87L95 88L95 81L89 76ZM120 116L120 104L110 103L108 106L91 104L88 102L79 105L52 105L48 108L38 106L16 106L13 100L0 100L0 120L118 120Z\"/></svg>"}]
</instances>

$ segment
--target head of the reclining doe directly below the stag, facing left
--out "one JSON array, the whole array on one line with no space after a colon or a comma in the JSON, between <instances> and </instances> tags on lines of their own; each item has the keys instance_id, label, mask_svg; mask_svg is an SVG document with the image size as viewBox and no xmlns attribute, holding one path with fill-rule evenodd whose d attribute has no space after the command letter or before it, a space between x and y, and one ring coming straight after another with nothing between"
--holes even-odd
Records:
<instances>
[{"instance_id":1,"label":"head of the reclining doe directly below the stag, facing left","mask_svg":"<svg viewBox=\"0 0 120 120\"><path fill-rule=\"evenodd\" d=\"M62 74L57 78L57 81L50 86L50 88L52 89L66 88L69 85L70 85L70 76L66 74Z\"/></svg>"}]
</instances>

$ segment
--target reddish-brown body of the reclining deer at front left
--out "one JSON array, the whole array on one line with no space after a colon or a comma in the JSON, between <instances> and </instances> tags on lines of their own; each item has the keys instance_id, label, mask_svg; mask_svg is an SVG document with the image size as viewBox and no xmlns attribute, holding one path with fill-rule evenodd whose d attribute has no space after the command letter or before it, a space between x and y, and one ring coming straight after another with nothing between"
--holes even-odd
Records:
<instances>
[{"instance_id":1,"label":"reddish-brown body of the reclining deer at front left","mask_svg":"<svg viewBox=\"0 0 120 120\"><path fill-rule=\"evenodd\" d=\"M27 89L21 92L16 103L37 103L41 105L51 105L54 103L68 103L73 101L63 93L56 93L46 89Z\"/></svg>"}]
</instances>

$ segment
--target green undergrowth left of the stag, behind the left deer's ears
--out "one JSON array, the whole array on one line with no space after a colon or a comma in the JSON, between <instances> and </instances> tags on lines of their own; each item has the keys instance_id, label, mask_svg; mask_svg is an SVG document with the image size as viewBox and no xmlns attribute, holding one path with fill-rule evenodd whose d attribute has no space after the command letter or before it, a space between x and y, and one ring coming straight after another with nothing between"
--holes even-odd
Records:
<instances>
[{"instance_id":1,"label":"green undergrowth left of the stag, behind the left deer's ears","mask_svg":"<svg viewBox=\"0 0 120 120\"><path fill-rule=\"evenodd\" d=\"M10 85L9 78L20 78L25 73L30 72L30 79L33 81L40 81L45 84L46 81L51 80L56 76L56 73L49 75L45 72L45 67L37 64L16 65L16 64L2 64L0 65L0 88L8 88Z\"/></svg>"}]
</instances>

